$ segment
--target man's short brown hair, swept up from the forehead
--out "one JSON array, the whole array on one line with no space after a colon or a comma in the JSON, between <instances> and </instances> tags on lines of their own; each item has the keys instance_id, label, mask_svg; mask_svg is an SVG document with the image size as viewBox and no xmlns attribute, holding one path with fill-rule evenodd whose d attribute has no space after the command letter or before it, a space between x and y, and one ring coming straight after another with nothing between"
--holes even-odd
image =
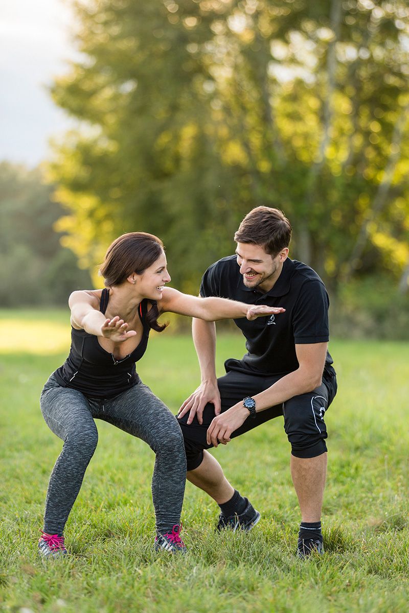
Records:
<instances>
[{"instance_id":1,"label":"man's short brown hair, swept up from the forehead","mask_svg":"<svg viewBox=\"0 0 409 613\"><path fill-rule=\"evenodd\" d=\"M256 207L247 213L234 235L236 243L253 243L275 257L291 241L291 224L278 208Z\"/></svg>"}]
</instances>

